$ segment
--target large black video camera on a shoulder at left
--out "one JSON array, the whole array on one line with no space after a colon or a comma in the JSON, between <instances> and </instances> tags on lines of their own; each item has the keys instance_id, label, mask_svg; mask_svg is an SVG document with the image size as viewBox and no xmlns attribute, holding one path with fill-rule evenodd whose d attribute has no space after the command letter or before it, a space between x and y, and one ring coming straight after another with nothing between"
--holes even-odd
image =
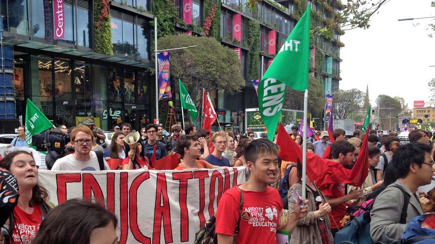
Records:
<instances>
[{"instance_id":1,"label":"large black video camera on a shoulder at left","mask_svg":"<svg viewBox=\"0 0 435 244\"><path fill-rule=\"evenodd\" d=\"M38 151L57 152L65 156L65 145L71 141L69 133L56 130L47 130L32 136L32 145Z\"/></svg>"}]
</instances>

